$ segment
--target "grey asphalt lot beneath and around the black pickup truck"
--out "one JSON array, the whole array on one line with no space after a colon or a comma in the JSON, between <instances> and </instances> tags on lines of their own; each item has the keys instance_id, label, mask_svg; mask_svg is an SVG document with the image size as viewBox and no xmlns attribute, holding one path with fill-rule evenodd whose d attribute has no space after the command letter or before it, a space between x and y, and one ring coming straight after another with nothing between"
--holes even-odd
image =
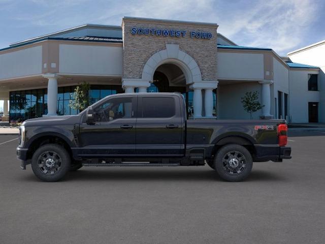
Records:
<instances>
[{"instance_id":1,"label":"grey asphalt lot beneath and around the black pickup truck","mask_svg":"<svg viewBox=\"0 0 325 244\"><path fill-rule=\"evenodd\" d=\"M0 243L325 243L325 132L290 132L293 159L244 182L209 166L83 167L60 182L19 168L0 136Z\"/></svg>"}]
</instances>

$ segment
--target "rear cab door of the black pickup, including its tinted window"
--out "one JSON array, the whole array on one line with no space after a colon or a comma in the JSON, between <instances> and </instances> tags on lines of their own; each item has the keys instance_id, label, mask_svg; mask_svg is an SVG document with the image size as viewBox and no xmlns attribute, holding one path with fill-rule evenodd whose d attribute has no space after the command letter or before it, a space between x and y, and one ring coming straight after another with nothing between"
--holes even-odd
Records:
<instances>
[{"instance_id":1,"label":"rear cab door of the black pickup, including its tinted window","mask_svg":"<svg viewBox=\"0 0 325 244\"><path fill-rule=\"evenodd\" d=\"M136 132L138 156L183 156L184 123L179 103L177 96L164 97L156 94L138 97Z\"/></svg>"}]
</instances>

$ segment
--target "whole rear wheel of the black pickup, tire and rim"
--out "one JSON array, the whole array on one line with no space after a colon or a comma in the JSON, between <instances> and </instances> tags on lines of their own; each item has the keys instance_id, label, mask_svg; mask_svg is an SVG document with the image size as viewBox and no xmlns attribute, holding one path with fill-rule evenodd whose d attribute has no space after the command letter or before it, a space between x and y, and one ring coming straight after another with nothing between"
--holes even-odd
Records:
<instances>
[{"instance_id":1,"label":"whole rear wheel of the black pickup, tire and rim","mask_svg":"<svg viewBox=\"0 0 325 244\"><path fill-rule=\"evenodd\" d=\"M253 160L249 151L238 144L221 147L214 159L217 174L226 181L242 181L252 170Z\"/></svg>"}]
</instances>

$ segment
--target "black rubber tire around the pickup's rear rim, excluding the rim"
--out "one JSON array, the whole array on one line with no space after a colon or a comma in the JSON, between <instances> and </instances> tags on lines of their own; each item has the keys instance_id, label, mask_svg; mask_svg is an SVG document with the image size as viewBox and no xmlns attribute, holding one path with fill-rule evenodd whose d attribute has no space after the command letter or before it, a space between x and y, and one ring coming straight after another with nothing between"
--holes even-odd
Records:
<instances>
[{"instance_id":1,"label":"black rubber tire around the pickup's rear rim, excluding the rim","mask_svg":"<svg viewBox=\"0 0 325 244\"><path fill-rule=\"evenodd\" d=\"M222 159L226 153L229 153L230 151L239 151L241 154L243 154L246 158L246 167L242 173L239 175L230 175L228 172L226 172L222 167ZM241 181L247 178L247 176L250 174L251 169L253 166L253 160L252 156L250 155L249 151L238 144L228 144L223 147L221 147L214 159L214 167L217 172L217 174L224 180L227 181Z\"/></svg>"}]
</instances>

